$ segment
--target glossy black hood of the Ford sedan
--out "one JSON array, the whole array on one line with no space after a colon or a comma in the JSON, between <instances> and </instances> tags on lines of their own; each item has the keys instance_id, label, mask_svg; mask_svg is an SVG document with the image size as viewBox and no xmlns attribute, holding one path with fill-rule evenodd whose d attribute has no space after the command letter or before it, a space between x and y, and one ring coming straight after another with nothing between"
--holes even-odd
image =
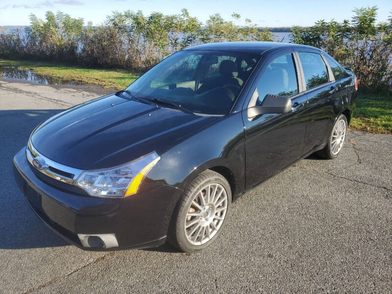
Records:
<instances>
[{"instance_id":1,"label":"glossy black hood of the Ford sedan","mask_svg":"<svg viewBox=\"0 0 392 294\"><path fill-rule=\"evenodd\" d=\"M31 143L55 162L101 169L152 151L161 155L217 119L129 100L117 93L55 115L35 130Z\"/></svg>"}]
</instances>

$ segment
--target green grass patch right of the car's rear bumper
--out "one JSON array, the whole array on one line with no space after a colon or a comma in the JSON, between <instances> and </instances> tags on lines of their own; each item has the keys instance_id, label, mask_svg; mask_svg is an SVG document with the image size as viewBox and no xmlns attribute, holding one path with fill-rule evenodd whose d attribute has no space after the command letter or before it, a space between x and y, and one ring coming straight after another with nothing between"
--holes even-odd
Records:
<instances>
[{"instance_id":1,"label":"green grass patch right of the car's rear bumper","mask_svg":"<svg viewBox=\"0 0 392 294\"><path fill-rule=\"evenodd\" d=\"M392 96L360 93L350 127L372 133L392 134Z\"/></svg>"}]
</instances>

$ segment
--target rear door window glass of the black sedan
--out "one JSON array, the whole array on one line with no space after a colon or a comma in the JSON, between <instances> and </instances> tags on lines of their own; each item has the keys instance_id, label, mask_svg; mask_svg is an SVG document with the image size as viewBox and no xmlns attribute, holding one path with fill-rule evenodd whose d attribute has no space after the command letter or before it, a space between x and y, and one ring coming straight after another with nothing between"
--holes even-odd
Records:
<instances>
[{"instance_id":1,"label":"rear door window glass of the black sedan","mask_svg":"<svg viewBox=\"0 0 392 294\"><path fill-rule=\"evenodd\" d=\"M298 52L306 81L306 90L327 83L328 73L324 60L317 53Z\"/></svg>"}]
</instances>

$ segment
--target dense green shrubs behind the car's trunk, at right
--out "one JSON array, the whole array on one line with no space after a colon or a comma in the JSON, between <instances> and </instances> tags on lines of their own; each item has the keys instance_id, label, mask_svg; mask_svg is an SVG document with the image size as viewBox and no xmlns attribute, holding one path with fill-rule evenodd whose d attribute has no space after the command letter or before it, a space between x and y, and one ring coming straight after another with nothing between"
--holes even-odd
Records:
<instances>
[{"instance_id":1,"label":"dense green shrubs behind the car's trunk, at right","mask_svg":"<svg viewBox=\"0 0 392 294\"><path fill-rule=\"evenodd\" d=\"M385 90L392 84L392 15L375 24L377 7L355 9L351 22L319 21L292 29L292 42L325 50L353 69L364 91Z\"/></svg>"}]
</instances>

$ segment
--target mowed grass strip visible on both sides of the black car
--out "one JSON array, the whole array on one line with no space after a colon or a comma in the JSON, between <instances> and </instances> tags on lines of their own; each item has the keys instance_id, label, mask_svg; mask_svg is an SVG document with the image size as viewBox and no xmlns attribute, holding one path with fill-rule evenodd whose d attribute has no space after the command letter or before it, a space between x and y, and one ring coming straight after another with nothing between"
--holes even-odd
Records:
<instances>
[{"instance_id":1,"label":"mowed grass strip visible on both sides of the black car","mask_svg":"<svg viewBox=\"0 0 392 294\"><path fill-rule=\"evenodd\" d=\"M53 78L123 89L141 73L114 69L90 69L53 62L0 60L0 67L18 67ZM350 127L373 133L392 134L392 96L360 93Z\"/></svg>"}]
</instances>

